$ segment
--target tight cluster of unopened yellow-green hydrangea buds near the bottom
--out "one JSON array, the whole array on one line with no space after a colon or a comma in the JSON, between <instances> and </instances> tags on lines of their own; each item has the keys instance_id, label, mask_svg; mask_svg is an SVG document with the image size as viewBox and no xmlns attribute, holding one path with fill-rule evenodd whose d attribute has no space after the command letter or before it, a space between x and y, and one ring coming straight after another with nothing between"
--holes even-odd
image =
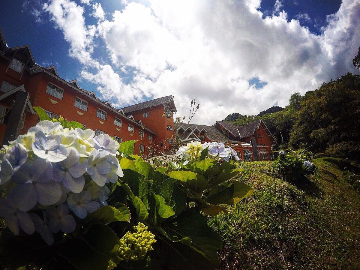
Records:
<instances>
[{"instance_id":1,"label":"tight cluster of unopened yellow-green hydrangea buds near the bottom","mask_svg":"<svg viewBox=\"0 0 360 270\"><path fill-rule=\"evenodd\" d=\"M155 235L148 231L148 226L139 222L134 226L134 233L128 231L119 239L118 256L125 260L143 260L148 251L153 250L152 244L156 243Z\"/></svg>"}]
</instances>

